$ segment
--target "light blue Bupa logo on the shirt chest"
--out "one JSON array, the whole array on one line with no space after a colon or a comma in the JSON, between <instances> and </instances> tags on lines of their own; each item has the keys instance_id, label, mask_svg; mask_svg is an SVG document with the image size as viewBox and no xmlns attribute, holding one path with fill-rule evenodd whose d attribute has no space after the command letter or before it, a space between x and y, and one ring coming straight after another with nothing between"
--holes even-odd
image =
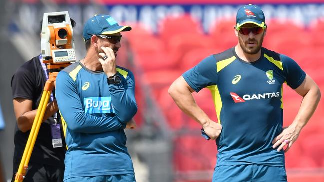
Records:
<instances>
[{"instance_id":1,"label":"light blue Bupa logo on the shirt chest","mask_svg":"<svg viewBox=\"0 0 324 182\"><path fill-rule=\"evenodd\" d=\"M114 113L111 104L111 97L86 97L84 98L84 112L95 113Z\"/></svg>"}]
</instances>

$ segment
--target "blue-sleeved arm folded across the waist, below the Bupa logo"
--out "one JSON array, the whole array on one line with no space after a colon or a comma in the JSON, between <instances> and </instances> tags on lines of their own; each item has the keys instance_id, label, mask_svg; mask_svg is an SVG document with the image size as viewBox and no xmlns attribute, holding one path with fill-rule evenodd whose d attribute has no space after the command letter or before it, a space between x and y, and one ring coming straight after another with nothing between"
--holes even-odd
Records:
<instances>
[{"instance_id":1,"label":"blue-sleeved arm folded across the waist, below the Bupa logo","mask_svg":"<svg viewBox=\"0 0 324 182\"><path fill-rule=\"evenodd\" d=\"M55 96L60 113L72 131L101 133L126 127L126 123L121 123L116 116L97 117L86 114L77 93L76 83L64 71L57 75Z\"/></svg>"}]
</instances>

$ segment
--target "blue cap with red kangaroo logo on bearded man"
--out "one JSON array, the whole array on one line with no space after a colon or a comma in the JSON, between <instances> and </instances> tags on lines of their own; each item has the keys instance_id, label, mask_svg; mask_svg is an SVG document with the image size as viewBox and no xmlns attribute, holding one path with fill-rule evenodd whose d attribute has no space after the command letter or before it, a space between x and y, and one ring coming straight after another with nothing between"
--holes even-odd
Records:
<instances>
[{"instance_id":1,"label":"blue cap with red kangaroo logo on bearded man","mask_svg":"<svg viewBox=\"0 0 324 182\"><path fill-rule=\"evenodd\" d=\"M266 26L265 15L257 5L244 5L239 8L236 14L236 28L246 24L253 23L260 27Z\"/></svg>"}]
</instances>

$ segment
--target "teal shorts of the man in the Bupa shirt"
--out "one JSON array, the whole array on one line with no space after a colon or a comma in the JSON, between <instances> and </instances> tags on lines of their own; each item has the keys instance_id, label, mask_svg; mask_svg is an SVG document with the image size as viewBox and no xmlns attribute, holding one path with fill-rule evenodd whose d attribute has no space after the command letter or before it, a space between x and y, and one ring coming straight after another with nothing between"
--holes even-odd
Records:
<instances>
[{"instance_id":1,"label":"teal shorts of the man in the Bupa shirt","mask_svg":"<svg viewBox=\"0 0 324 182\"><path fill-rule=\"evenodd\" d=\"M134 174L105 175L93 177L74 177L64 182L136 182Z\"/></svg>"}]
</instances>

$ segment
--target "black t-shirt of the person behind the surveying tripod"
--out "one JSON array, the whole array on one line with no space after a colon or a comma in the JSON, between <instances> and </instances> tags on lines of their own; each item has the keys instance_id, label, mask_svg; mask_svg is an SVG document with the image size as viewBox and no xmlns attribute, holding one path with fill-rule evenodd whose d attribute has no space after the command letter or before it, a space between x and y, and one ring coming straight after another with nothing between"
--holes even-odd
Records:
<instances>
[{"instance_id":1,"label":"black t-shirt of the person behind the surveying tripod","mask_svg":"<svg viewBox=\"0 0 324 182\"><path fill-rule=\"evenodd\" d=\"M24 98L32 100L32 110L37 109L45 82L46 76L39 61L39 57L34 57L20 66L12 76L11 87L13 99ZM46 122L41 124L35 146L30 157L30 163L41 163L64 167L66 144L62 129L61 136L63 140L63 147L53 148L52 146L51 128L50 124L48 123L53 122L53 118L54 117L51 116ZM58 123L61 123L59 116ZM20 163L29 133L30 130L25 133L21 132L16 125L14 133L14 163Z\"/></svg>"}]
</instances>

